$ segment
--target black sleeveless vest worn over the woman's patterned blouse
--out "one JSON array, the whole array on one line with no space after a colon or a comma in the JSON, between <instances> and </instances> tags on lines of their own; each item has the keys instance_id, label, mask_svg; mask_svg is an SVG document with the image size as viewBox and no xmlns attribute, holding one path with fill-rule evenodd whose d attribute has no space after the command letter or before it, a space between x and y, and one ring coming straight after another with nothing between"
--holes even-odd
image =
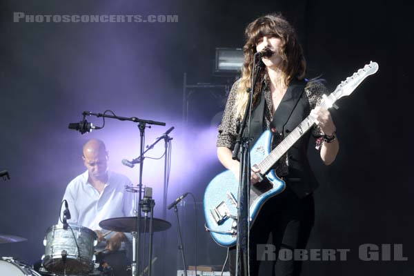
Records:
<instances>
[{"instance_id":1,"label":"black sleeveless vest worn over the woman's patterned blouse","mask_svg":"<svg viewBox=\"0 0 414 276\"><path fill-rule=\"evenodd\" d=\"M271 128L275 128L274 135L283 135L286 137L290 131L294 130L311 112L309 101L304 92L306 81L290 81L288 89L282 101L279 103ZM250 137L253 137L252 144L266 130L264 126L264 91L260 97L259 103L255 106L250 126ZM307 151L308 143L311 137L311 130L306 132L287 152L288 158L288 175L283 176L288 187L300 198L313 193L319 185L313 175L309 165ZM277 145L272 145L275 148Z\"/></svg>"}]
</instances>

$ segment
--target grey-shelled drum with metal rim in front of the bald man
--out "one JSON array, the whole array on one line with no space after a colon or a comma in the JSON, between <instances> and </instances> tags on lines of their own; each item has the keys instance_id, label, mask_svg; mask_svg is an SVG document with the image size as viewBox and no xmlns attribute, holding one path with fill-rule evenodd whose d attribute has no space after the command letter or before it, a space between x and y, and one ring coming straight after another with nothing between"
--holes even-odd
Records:
<instances>
[{"instance_id":1,"label":"grey-shelled drum with metal rim in front of the bald man","mask_svg":"<svg viewBox=\"0 0 414 276\"><path fill-rule=\"evenodd\" d=\"M63 225L50 226L43 245L43 266L49 272L83 275L94 267L97 235L89 228L75 224L70 224L67 230Z\"/></svg>"}]
</instances>

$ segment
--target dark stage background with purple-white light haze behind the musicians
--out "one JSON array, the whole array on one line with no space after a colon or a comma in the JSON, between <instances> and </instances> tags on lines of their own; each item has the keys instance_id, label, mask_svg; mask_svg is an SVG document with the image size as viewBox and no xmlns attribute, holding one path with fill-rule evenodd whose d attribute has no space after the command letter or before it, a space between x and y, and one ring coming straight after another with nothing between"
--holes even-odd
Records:
<instances>
[{"instance_id":1,"label":"dark stage background with purple-white light haze behind the musicians","mask_svg":"<svg viewBox=\"0 0 414 276\"><path fill-rule=\"evenodd\" d=\"M57 221L64 189L84 170L80 152L87 139L106 141L110 167L137 184L137 168L120 164L138 155L137 127L107 120L105 129L81 136L67 125L79 121L83 110L165 121L166 128L147 130L147 144L175 126L168 201L190 191L200 202L209 179L221 170L208 122L222 109L225 91L191 98L190 123L182 124L184 72L189 83L231 83L212 75L215 48L241 48L247 23L280 11L304 46L307 77L322 75L330 90L369 61L380 64L332 111L341 146L335 163L325 167L310 153L321 186L308 247L351 252L346 262L306 262L303 275L413 275L411 1L1 1L0 7L0 170L12 177L0 179L0 234L28 239L0 244L0 256L32 263L44 253L43 237ZM178 14L179 21L13 23L13 12ZM152 156L162 150L157 145ZM146 162L144 184L155 189L160 217L164 161ZM197 206L198 264L222 264L226 250L204 232ZM192 265L190 197L180 214ZM181 268L172 215L167 242L160 245L161 235L155 235L155 255L164 256L157 275ZM361 244L403 244L408 261L363 262Z\"/></svg>"}]
</instances>

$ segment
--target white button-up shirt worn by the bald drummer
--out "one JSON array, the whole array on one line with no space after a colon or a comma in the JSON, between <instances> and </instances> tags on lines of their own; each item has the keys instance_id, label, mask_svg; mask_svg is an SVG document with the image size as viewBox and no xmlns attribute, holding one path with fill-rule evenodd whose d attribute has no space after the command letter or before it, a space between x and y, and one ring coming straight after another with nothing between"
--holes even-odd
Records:
<instances>
[{"instance_id":1,"label":"white button-up shirt worn by the bald drummer","mask_svg":"<svg viewBox=\"0 0 414 276\"><path fill-rule=\"evenodd\" d=\"M99 226L99 222L103 219L133 216L135 194L125 190L126 185L132 185L128 177L116 172L108 172L108 182L101 194L88 182L88 177L88 170L86 170L70 181L66 187L63 199L68 201L70 210L71 218L68 219L68 223L84 226L90 230L102 230L105 233L108 230L103 230Z\"/></svg>"}]
</instances>

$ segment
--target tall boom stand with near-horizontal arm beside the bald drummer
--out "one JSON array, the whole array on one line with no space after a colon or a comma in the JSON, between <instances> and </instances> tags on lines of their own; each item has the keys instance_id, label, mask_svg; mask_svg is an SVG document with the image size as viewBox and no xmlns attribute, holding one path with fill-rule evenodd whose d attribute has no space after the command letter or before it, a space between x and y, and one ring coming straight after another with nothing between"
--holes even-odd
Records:
<instances>
[{"instance_id":1,"label":"tall boom stand with near-horizontal arm beside the bald drummer","mask_svg":"<svg viewBox=\"0 0 414 276\"><path fill-rule=\"evenodd\" d=\"M141 158L141 162L139 162L139 184L138 184L138 193L139 193L139 201L137 204L137 209L134 210L135 215L137 216L137 224L135 226L137 233L132 234L132 242L134 243L134 247L132 248L132 266L131 266L131 273L132 276L137 276L139 273L139 242L141 239L141 206L140 202L142 199L142 172L144 171L144 136L145 136L145 128L147 124L157 125L157 126L165 126L166 123L160 121L150 121L144 119L138 119L137 117L119 117L115 115L106 115L102 113L93 113L89 111L84 111L82 113L83 116L96 116L96 117L105 117L111 119L118 119L120 121L133 121L138 124L139 128L139 157ZM145 229L144 229L145 230ZM136 236L136 237L135 237Z\"/></svg>"}]
</instances>

